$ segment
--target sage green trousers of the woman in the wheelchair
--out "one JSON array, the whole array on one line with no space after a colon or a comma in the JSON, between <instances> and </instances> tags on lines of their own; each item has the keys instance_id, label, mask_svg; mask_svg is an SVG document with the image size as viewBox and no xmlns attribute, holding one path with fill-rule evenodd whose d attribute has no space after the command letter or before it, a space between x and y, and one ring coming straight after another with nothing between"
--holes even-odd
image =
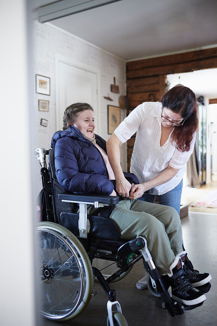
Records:
<instances>
[{"instance_id":1,"label":"sage green trousers of the woman in the wheelchair","mask_svg":"<svg viewBox=\"0 0 217 326\"><path fill-rule=\"evenodd\" d=\"M116 204L110 218L117 224L121 239L144 236L160 274L170 273L175 256L183 251L181 221L174 208L125 199Z\"/></svg>"}]
</instances>

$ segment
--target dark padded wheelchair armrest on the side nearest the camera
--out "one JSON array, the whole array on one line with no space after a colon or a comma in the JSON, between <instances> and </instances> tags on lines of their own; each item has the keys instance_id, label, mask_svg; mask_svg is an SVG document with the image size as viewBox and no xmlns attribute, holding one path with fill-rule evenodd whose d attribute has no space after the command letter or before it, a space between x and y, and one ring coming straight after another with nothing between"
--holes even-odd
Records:
<instances>
[{"instance_id":1,"label":"dark padded wheelchair armrest on the side nearest the camera","mask_svg":"<svg viewBox=\"0 0 217 326\"><path fill-rule=\"evenodd\" d=\"M119 201L118 196L107 196L107 195L87 195L87 194L74 194L72 192L67 192L65 194L59 194L58 198L64 201L73 201L73 202L86 202L86 203L95 203L99 202L107 205L117 204Z\"/></svg>"}]
</instances>

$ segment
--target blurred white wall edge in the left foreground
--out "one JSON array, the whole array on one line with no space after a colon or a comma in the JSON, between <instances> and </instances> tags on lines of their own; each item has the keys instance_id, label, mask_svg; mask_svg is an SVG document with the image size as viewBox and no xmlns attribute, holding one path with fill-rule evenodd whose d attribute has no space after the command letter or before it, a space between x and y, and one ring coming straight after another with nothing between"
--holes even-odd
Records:
<instances>
[{"instance_id":1,"label":"blurred white wall edge in the left foreground","mask_svg":"<svg viewBox=\"0 0 217 326\"><path fill-rule=\"evenodd\" d=\"M0 1L0 320L36 325L26 1Z\"/></svg>"}]
</instances>

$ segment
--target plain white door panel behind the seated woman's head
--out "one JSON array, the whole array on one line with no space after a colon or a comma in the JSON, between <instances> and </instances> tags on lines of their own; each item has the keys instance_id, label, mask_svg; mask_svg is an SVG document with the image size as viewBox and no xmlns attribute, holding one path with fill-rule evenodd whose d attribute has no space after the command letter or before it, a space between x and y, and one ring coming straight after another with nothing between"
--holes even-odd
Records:
<instances>
[{"instance_id":1,"label":"plain white door panel behind the seated woman's head","mask_svg":"<svg viewBox=\"0 0 217 326\"><path fill-rule=\"evenodd\" d=\"M63 115L67 106L86 102L94 109L95 133L98 134L97 73L58 61L57 91L57 130L63 128Z\"/></svg>"}]
</instances>

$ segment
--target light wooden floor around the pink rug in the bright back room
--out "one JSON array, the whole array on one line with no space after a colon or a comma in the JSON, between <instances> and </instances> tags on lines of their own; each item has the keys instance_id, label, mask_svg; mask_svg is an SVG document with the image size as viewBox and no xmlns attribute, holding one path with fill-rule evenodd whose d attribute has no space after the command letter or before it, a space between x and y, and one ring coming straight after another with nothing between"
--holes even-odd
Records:
<instances>
[{"instance_id":1,"label":"light wooden floor around the pink rug in the bright back room","mask_svg":"<svg viewBox=\"0 0 217 326\"><path fill-rule=\"evenodd\" d=\"M207 185L202 185L200 188L190 191L187 194L181 195L181 205L187 205L192 203L195 200L200 199L203 196L206 196L213 190L217 189L217 175L212 176L212 182ZM202 207L188 207L189 212L200 212L207 214L217 214L217 208L202 208Z\"/></svg>"}]
</instances>

